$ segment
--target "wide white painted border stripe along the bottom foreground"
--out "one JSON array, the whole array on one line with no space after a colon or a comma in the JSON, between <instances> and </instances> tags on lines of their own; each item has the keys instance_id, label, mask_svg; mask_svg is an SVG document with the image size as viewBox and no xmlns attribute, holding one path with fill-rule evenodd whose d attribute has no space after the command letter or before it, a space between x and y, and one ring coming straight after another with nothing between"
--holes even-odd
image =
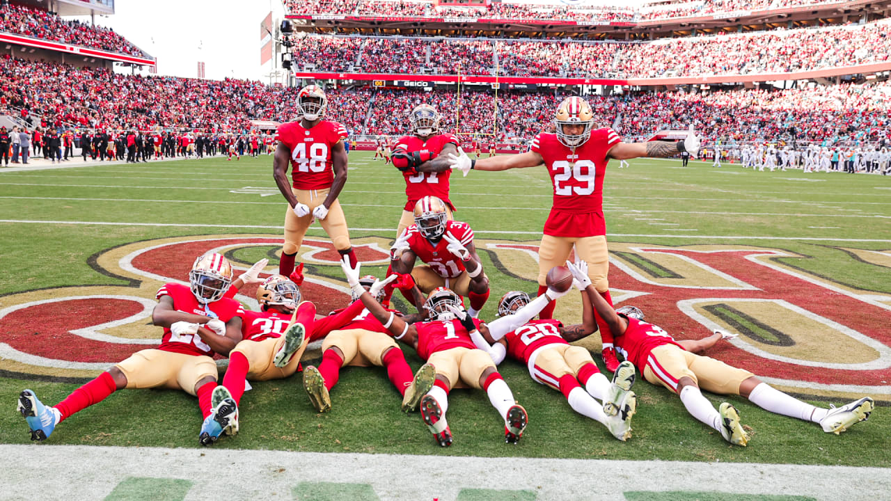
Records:
<instances>
[{"instance_id":1,"label":"wide white painted border stripe along the bottom foreground","mask_svg":"<svg viewBox=\"0 0 891 501\"><path fill-rule=\"evenodd\" d=\"M19 424L21 433L26 433L24 420ZM56 432L63 433L65 426L61 424ZM822 433L813 423L801 423L801 427L802 432ZM611 439L606 431L593 432L601 435L597 439ZM707 434L707 430L701 433ZM495 431L493 434L495 440ZM197 428L195 435L197 443ZM715 444L722 443L720 436L712 439ZM39 478L40 497L45 499L102 499L128 477L191 480L187 499L219 498L219 479L227 480L226 497L232 499L293 499L291 489L304 481L368 484L384 501L454 501L462 489L522 489L548 501L614 501L624 499L625 491L642 488L644 484L634 483L635 479L650 479L645 489L655 493L707 487L728 493L729 498L735 493L830 500L851 497L854 492L891 490L891 470L865 466L513 457L511 468L488 475L491 458L436 455L432 441L419 446L429 450L430 456L238 450L238 461L233 461L233 451L228 449L60 446L51 445L52 441L51 437L41 446L0 445L0 454L8 458L0 489L10 494L21 492L22 486L35 482L38 464L41 471L52 472ZM749 447L771 444L768 437L759 436ZM184 469L184 464L189 468ZM416 470L419 464L435 473L405 481L405 472ZM615 481L599 482L597 489L592 489L590 476L573 472L597 472L599 478Z\"/></svg>"}]
</instances>

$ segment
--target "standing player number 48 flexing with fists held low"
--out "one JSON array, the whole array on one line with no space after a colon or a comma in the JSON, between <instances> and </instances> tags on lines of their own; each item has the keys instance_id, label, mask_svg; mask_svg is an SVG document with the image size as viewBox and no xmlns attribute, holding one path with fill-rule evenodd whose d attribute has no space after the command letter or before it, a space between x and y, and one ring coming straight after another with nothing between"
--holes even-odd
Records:
<instances>
[{"instance_id":1,"label":"standing player number 48 flexing with fists held low","mask_svg":"<svg viewBox=\"0 0 891 501\"><path fill-rule=\"evenodd\" d=\"M356 263L349 242L347 218L337 200L347 183L347 151L343 142L347 129L323 119L328 98L319 86L305 86L297 95L300 119L278 128L278 149L273 160L273 176L288 201L284 218L284 245L279 275L290 276L307 228L317 218L331 243L342 256ZM288 182L288 165L291 178Z\"/></svg>"}]
</instances>

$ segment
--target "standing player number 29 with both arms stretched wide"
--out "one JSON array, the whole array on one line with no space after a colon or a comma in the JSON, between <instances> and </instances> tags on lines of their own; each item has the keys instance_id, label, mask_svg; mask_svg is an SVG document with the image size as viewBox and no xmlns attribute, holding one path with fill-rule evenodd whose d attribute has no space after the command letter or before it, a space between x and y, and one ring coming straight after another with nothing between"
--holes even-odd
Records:
<instances>
[{"instance_id":1,"label":"standing player number 29 with both arms stretched wide","mask_svg":"<svg viewBox=\"0 0 891 501\"><path fill-rule=\"evenodd\" d=\"M686 139L677 143L650 141L624 143L609 127L594 129L593 110L581 97L563 100L554 116L556 133L535 136L529 152L470 160L465 155L451 155L452 168L464 175L471 169L506 170L544 164L553 185L553 205L544 223L544 235L538 249L538 293L544 292L544 278L552 267L560 266L573 247L576 256L588 263L597 292L612 304L609 296L609 253L606 222L603 218L603 177L610 159L628 160L640 157L668 157L682 152L696 155L699 137L690 127ZM551 318L549 305L541 318ZM610 372L618 367L609 329L600 316L595 316L603 339L603 361Z\"/></svg>"}]
</instances>

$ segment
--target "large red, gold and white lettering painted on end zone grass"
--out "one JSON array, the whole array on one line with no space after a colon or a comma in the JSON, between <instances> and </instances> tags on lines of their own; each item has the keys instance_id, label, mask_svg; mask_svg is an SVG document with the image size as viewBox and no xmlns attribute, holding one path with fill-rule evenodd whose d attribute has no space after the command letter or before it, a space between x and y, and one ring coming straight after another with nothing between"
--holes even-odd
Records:
<instances>
[{"instance_id":1,"label":"large red, gold and white lettering painted on end zone grass","mask_svg":"<svg viewBox=\"0 0 891 501\"><path fill-rule=\"evenodd\" d=\"M357 239L357 257L369 266L386 265L388 242ZM537 243L476 242L495 263L496 269L486 269L487 275L519 279L528 292L535 292ZM0 370L24 377L93 377L136 350L159 343L160 329L151 325L155 292L164 283L187 283L196 256L224 253L236 276L266 256L273 264L266 272L273 274L280 245L277 236L200 235L106 250L91 264L128 285L68 287L2 298ZM716 345L707 353L710 357L801 394L891 399L891 297L785 266L777 258L801 257L785 250L621 242L610 242L609 250L609 286L617 306L642 308L648 321L677 339L699 339L715 329L740 334ZM845 250L887 272L886 253ZM299 261L316 272L307 274L301 286L305 300L315 302L320 313L347 306L349 290L330 242L307 239ZM255 287L246 287L236 299L257 308ZM493 291L490 302L504 292ZM491 311L495 304L487 307ZM579 295L558 301L555 316L579 322ZM596 334L580 344L600 351Z\"/></svg>"}]
</instances>

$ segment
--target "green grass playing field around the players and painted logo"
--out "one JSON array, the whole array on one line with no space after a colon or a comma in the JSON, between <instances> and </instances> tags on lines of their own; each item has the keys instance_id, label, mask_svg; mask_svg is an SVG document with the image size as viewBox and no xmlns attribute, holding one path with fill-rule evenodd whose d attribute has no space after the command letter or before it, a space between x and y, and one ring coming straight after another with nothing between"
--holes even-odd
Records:
<instances>
[{"instance_id":1,"label":"green grass playing field around the players and painted logo","mask_svg":"<svg viewBox=\"0 0 891 501\"><path fill-rule=\"evenodd\" d=\"M614 245L625 249L711 244L783 250L796 256L777 258L782 266L891 305L887 279L891 178L800 171L753 173L736 165L719 169L707 165L691 162L681 168L675 160L633 160L627 169L612 165L604 190L611 250ZM23 292L32 292L29 300L35 300L50 297L62 287L126 286L122 277L100 273L91 257L131 242L202 234L278 237L284 212L281 196L261 196L275 193L271 173L272 160L266 156L238 162L180 160L134 167L0 171L4 235L0 308L18 304L15 298ZM551 185L544 168L474 171L466 178L459 174L452 177L452 194L459 208L455 217L470 223L479 241L537 242L551 206ZM389 241L405 203L404 183L394 168L372 160L370 152L353 152L340 201L351 237L377 236ZM323 236L323 232L314 226L309 235ZM272 244L248 248L237 256L249 264L274 248ZM537 270L529 269L527 261L506 262L502 254L482 248L480 254L493 290L483 318L494 318L497 300L508 290L535 292L535 283L528 278ZM193 256L188 259L186 268ZM642 269L650 266L650 272L658 271L647 263L642 262ZM338 267L309 269L342 282ZM385 269L364 267L363 271L382 275ZM177 278L186 279L184 275ZM140 291L133 293L153 297L151 292ZM831 300L831 296L814 298L815 303ZM647 309L645 300L634 302ZM871 333L878 333L873 337L887 347L887 308L884 318L876 313L880 308L870 308L847 315L871 325ZM657 318L680 315L648 313ZM575 322L578 317L564 320ZM37 324L52 321L34 319ZM3 326L0 335L11 335L8 328ZM39 327L35 330L34 343L53 343L53 336L39 335ZM159 329L153 332L159 337ZM417 368L421 360L410 351L406 349L409 363ZM831 359L834 354L830 349L822 356ZM846 355L838 353L838 357ZM8 360L0 360L4 362ZM19 365L0 365L0 369L4 375L0 403L7 409L0 413L2 443L29 442L27 426L13 412L20 390L35 390L46 403L54 404L78 387L76 380L86 380L86 374L63 382L52 374L26 377L22 374L27 371ZM891 466L891 456L884 451L891 431L887 393L873 395L879 407L869 422L840 436L823 433L817 424L769 414L743 398L707 395L715 404L726 399L740 409L752 439L748 448L736 448L687 415L680 400L667 390L639 382L634 437L621 443L600 424L572 412L559 393L532 382L522 365L509 360L501 370L530 415L517 447L503 443L503 424L483 392L455 390L448 415L454 446L438 448L418 415L399 412L398 394L386 374L366 368L341 372L331 394L333 408L325 415L313 411L299 374L289 380L256 383L255 390L242 399L241 433L221 439L214 447ZM789 368L789 378L795 377L796 370ZM871 377L882 370L887 367L872 370ZM891 385L888 380L877 381ZM806 385L798 393L821 407L828 406L827 399L837 405L846 401L821 397L825 392L812 392ZM47 444L198 448L199 429L194 398L172 390L128 390L61 423Z\"/></svg>"}]
</instances>

